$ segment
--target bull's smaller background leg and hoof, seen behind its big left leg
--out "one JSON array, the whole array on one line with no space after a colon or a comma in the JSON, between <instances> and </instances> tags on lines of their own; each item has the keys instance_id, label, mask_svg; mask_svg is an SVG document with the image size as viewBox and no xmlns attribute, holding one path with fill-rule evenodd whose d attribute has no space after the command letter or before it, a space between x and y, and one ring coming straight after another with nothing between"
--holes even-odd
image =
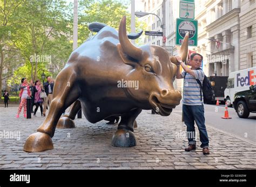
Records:
<instances>
[{"instance_id":1,"label":"bull's smaller background leg and hoof, seen behind its big left leg","mask_svg":"<svg viewBox=\"0 0 256 187\"><path fill-rule=\"evenodd\" d=\"M69 111L65 112L64 116L59 119L57 128L75 128L74 119L76 118L76 114L81 110L81 103L79 100L76 100L70 106Z\"/></svg>"}]
</instances>

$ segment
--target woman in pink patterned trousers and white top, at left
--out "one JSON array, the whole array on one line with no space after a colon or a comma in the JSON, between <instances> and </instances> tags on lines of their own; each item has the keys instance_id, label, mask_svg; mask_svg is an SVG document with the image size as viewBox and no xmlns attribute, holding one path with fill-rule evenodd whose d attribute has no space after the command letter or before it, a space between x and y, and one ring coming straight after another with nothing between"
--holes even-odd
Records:
<instances>
[{"instance_id":1,"label":"woman in pink patterned trousers and white top, at left","mask_svg":"<svg viewBox=\"0 0 256 187\"><path fill-rule=\"evenodd\" d=\"M22 107L23 107L24 118L26 118L26 98L31 96L29 84L26 78L25 77L22 78L21 82L22 82L20 87L21 92L19 93L19 98L21 100L21 103L19 103L18 113L16 118L19 118L19 113L21 113Z\"/></svg>"}]
</instances>

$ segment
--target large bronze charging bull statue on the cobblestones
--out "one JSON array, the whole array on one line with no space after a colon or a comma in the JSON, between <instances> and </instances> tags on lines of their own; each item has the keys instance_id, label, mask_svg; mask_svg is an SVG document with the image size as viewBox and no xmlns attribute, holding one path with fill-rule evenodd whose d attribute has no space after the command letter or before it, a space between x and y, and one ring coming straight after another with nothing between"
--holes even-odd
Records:
<instances>
[{"instance_id":1,"label":"large bronze charging bull statue on the cobblestones","mask_svg":"<svg viewBox=\"0 0 256 187\"><path fill-rule=\"evenodd\" d=\"M181 45L185 61L188 35ZM126 18L117 32L104 26L72 52L56 77L48 116L37 132L26 139L26 152L53 149L52 137L58 126L73 127L81 109L90 123L120 116L112 146L136 146L134 120L142 110L169 116L179 105L181 94L174 90L176 57L156 45L134 46L126 34ZM70 110L63 118L62 113ZM59 119L60 118L60 119Z\"/></svg>"}]
</instances>

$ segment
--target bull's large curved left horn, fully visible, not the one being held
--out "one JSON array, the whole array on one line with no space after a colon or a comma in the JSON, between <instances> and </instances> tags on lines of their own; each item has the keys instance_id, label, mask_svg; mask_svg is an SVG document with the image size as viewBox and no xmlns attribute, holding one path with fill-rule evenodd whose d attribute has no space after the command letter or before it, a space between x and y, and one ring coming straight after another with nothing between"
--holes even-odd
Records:
<instances>
[{"instance_id":1,"label":"bull's large curved left horn, fully visible, not the one being held","mask_svg":"<svg viewBox=\"0 0 256 187\"><path fill-rule=\"evenodd\" d=\"M142 49L134 46L127 37L125 16L120 21L118 35L119 35L120 45L124 53L133 57L133 59L136 59L136 60L142 59Z\"/></svg>"}]
</instances>

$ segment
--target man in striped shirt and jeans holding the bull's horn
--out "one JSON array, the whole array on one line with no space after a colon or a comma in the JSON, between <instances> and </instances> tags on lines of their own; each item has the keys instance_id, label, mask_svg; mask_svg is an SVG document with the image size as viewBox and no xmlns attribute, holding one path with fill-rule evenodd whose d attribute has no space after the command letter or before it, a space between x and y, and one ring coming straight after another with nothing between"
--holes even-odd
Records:
<instances>
[{"instance_id":1,"label":"man in striped shirt and jeans holding the bull's horn","mask_svg":"<svg viewBox=\"0 0 256 187\"><path fill-rule=\"evenodd\" d=\"M208 135L205 127L205 117L204 117L204 98L203 92L201 92L200 85L196 80L199 80L203 85L204 81L204 71L200 69L201 63L203 61L203 56L198 53L193 53L190 57L191 59L191 69L186 66L184 62L181 61L180 56L176 56L178 60L178 69L176 78L184 78L183 86L183 116L184 122L187 126L187 138L188 147L185 148L187 152L196 149L196 132L194 128L194 121L198 126L201 148L203 148L204 154L210 154L208 149ZM183 67L184 71L180 74L179 66Z\"/></svg>"}]
</instances>

